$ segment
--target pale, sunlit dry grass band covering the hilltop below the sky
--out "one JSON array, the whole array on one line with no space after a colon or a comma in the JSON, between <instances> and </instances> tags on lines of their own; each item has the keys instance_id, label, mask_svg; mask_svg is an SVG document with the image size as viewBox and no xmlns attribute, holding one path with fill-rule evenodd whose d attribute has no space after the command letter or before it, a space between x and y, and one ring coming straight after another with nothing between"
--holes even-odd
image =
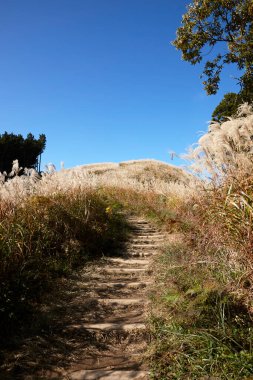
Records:
<instances>
[{"instance_id":1,"label":"pale, sunlit dry grass band covering the hilltop below the sky","mask_svg":"<svg viewBox=\"0 0 253 380\"><path fill-rule=\"evenodd\" d=\"M21 176L0 187L2 201L20 203L27 196L51 195L73 189L124 187L136 191L154 191L161 194L186 194L192 177L182 169L159 161L134 161L120 164L94 164L78 166L35 176Z\"/></svg>"}]
</instances>

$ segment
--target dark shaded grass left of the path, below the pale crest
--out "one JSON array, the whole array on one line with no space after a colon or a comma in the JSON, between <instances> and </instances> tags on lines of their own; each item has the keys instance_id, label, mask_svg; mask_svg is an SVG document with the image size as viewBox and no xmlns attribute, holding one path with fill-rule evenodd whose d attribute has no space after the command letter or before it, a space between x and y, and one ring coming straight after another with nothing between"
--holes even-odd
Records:
<instances>
[{"instance_id":1,"label":"dark shaded grass left of the path, below the pale crest","mask_svg":"<svg viewBox=\"0 0 253 380\"><path fill-rule=\"evenodd\" d=\"M15 207L2 205L0 331L6 334L32 318L54 278L112 254L126 225L105 194L92 190L34 195Z\"/></svg>"}]
</instances>

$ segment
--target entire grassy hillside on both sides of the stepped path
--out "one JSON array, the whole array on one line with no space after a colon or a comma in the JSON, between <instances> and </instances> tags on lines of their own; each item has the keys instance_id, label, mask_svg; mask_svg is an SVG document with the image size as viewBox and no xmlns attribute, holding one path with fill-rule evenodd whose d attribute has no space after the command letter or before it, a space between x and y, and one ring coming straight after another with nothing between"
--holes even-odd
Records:
<instances>
[{"instance_id":1,"label":"entire grassy hillside on both sides of the stepped path","mask_svg":"<svg viewBox=\"0 0 253 380\"><path fill-rule=\"evenodd\" d=\"M172 233L158 258L147 360L154 379L249 379L253 114L211 124L193 174L155 160L16 177L0 189L1 320L15 325L55 278L111 252L124 214ZM45 284L47 286L45 286Z\"/></svg>"}]
</instances>

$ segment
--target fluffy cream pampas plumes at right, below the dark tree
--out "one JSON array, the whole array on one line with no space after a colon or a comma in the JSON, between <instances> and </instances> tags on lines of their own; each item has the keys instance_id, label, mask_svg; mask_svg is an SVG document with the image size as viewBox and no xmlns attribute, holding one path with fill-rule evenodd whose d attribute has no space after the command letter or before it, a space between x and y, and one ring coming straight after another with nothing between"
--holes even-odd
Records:
<instances>
[{"instance_id":1,"label":"fluffy cream pampas plumes at right, below the dark tree","mask_svg":"<svg viewBox=\"0 0 253 380\"><path fill-rule=\"evenodd\" d=\"M235 118L223 123L211 121L208 132L198 140L185 158L191 170L212 179L221 178L235 170L252 170L253 108L242 104Z\"/></svg>"}]
</instances>

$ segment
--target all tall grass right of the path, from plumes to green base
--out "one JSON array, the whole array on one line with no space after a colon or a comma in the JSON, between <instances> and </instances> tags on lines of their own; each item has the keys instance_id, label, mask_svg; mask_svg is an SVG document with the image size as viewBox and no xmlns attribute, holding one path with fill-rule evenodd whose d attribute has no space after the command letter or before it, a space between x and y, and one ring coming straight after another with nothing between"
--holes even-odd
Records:
<instances>
[{"instance_id":1,"label":"all tall grass right of the path, from plumes to green base","mask_svg":"<svg viewBox=\"0 0 253 380\"><path fill-rule=\"evenodd\" d=\"M253 112L211 123L188 158L196 191L177 209L181 243L157 263L153 378L249 379L252 361Z\"/></svg>"}]
</instances>

